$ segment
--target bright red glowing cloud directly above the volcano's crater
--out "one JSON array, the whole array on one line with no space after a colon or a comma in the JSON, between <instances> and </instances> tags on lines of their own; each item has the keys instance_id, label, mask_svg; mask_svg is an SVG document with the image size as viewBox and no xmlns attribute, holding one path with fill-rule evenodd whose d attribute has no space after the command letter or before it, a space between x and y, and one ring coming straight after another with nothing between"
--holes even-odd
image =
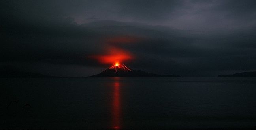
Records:
<instances>
[{"instance_id":1,"label":"bright red glowing cloud directly above the volcano's crater","mask_svg":"<svg viewBox=\"0 0 256 130\"><path fill-rule=\"evenodd\" d=\"M124 51L120 48L110 48L108 53L105 55L95 55L94 59L97 59L102 64L115 64L119 65L120 63L133 59L133 55L128 51Z\"/></svg>"}]
</instances>

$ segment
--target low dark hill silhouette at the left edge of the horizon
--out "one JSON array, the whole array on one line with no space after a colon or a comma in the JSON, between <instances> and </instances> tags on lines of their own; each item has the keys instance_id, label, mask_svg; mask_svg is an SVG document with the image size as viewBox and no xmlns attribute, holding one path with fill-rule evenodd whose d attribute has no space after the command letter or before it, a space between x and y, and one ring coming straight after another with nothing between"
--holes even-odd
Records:
<instances>
[{"instance_id":1,"label":"low dark hill silhouette at the left edge of the horizon","mask_svg":"<svg viewBox=\"0 0 256 130\"><path fill-rule=\"evenodd\" d=\"M0 78L20 78L20 77L30 77L30 78L40 78L40 77L53 77L49 75L43 75L40 73L31 73L31 72L24 72L20 71L16 68L11 66L1 66L0 69Z\"/></svg>"}]
</instances>

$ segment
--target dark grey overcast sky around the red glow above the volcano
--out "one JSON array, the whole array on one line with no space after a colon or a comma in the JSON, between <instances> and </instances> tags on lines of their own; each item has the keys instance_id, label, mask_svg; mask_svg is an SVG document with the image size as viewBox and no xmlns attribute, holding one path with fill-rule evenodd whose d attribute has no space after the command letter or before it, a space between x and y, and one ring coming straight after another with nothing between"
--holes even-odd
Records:
<instances>
[{"instance_id":1,"label":"dark grey overcast sky around the red glow above the volcano","mask_svg":"<svg viewBox=\"0 0 256 130\"><path fill-rule=\"evenodd\" d=\"M0 38L2 66L47 75L94 75L115 53L158 74L256 71L256 1L1 0Z\"/></svg>"}]
</instances>

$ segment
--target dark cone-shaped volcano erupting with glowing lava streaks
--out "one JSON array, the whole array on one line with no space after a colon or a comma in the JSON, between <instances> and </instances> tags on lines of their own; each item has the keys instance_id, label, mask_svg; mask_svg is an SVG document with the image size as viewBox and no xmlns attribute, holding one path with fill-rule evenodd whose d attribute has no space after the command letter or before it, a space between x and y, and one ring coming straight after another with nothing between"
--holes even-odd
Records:
<instances>
[{"instance_id":1,"label":"dark cone-shaped volcano erupting with glowing lava streaks","mask_svg":"<svg viewBox=\"0 0 256 130\"><path fill-rule=\"evenodd\" d=\"M124 64L115 64L97 75L89 77L181 77L179 75L158 75L141 70L132 70Z\"/></svg>"}]
</instances>

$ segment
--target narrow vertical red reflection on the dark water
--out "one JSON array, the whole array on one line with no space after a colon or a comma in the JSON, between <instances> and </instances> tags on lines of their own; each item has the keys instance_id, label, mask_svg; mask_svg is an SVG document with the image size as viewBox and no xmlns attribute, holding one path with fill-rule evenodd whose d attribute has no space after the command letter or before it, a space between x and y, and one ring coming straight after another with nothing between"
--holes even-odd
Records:
<instances>
[{"instance_id":1,"label":"narrow vertical red reflection on the dark water","mask_svg":"<svg viewBox=\"0 0 256 130\"><path fill-rule=\"evenodd\" d=\"M113 92L113 104L112 104L112 128L120 129L120 84L117 81L114 82L114 92Z\"/></svg>"}]
</instances>

